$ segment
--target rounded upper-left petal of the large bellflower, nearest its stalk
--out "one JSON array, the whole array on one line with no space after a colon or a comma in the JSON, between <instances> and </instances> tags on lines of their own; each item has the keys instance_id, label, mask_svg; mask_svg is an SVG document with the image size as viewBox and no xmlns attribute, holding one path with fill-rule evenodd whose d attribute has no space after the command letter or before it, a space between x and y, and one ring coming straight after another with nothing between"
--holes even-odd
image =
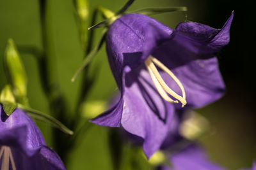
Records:
<instances>
[{"instance_id":1,"label":"rounded upper-left petal of the large bellflower, nearest its stalk","mask_svg":"<svg viewBox=\"0 0 256 170\"><path fill-rule=\"evenodd\" d=\"M117 81L118 87L122 84L122 70L125 66L140 66L143 62L142 52L144 50L145 36L148 25L153 25L165 32L172 29L157 20L146 15L131 13L124 15L109 27L106 38L106 50L112 73Z\"/></svg>"}]
</instances>

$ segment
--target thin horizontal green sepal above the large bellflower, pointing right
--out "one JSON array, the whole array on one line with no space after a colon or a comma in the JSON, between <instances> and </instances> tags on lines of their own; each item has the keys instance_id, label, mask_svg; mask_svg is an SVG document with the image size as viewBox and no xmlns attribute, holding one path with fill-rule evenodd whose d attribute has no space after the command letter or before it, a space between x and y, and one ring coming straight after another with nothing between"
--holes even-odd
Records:
<instances>
[{"instance_id":1,"label":"thin horizontal green sepal above the large bellflower, pointing right","mask_svg":"<svg viewBox=\"0 0 256 170\"><path fill-rule=\"evenodd\" d=\"M187 11L186 6L175 6L175 7L158 7L158 8L143 8L141 10L131 11L129 13L140 13L143 15L156 15L159 13L174 12L174 11Z\"/></svg>"}]
</instances>

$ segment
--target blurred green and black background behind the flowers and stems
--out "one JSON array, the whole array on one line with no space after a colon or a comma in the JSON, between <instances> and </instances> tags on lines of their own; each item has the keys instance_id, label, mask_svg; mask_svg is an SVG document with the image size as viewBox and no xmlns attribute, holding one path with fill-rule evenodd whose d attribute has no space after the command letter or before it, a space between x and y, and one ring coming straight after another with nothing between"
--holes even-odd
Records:
<instances>
[{"instance_id":1,"label":"blurred green and black background behind the flowers and stems","mask_svg":"<svg viewBox=\"0 0 256 170\"><path fill-rule=\"evenodd\" d=\"M76 82L70 79L83 60L79 43L74 7L71 0L49 1L52 45L56 55L56 70L61 90L65 93L70 110L74 110L81 76ZM90 1L90 14L96 5L119 10L126 1ZM198 110L209 119L215 131L201 139L209 157L227 169L252 166L256 160L255 99L253 79L255 66L255 14L252 1L232 0L136 0L129 11L150 6L187 6L187 12L164 13L152 17L174 28L184 20L191 20L221 28L232 10L234 22L230 31L230 44L219 54L220 69L227 84L227 94L214 104ZM36 0L0 0L0 89L6 84L3 55L6 41L13 38L17 46L36 46L42 49L39 4ZM99 21L102 18L99 18ZM97 30L100 32L100 29ZM20 52L28 74L28 97L32 108L49 113L47 99L40 84L38 65L33 55ZM93 60L90 74L97 79L88 100L102 103L115 92L111 74L102 48ZM45 140L52 146L50 128L37 122ZM107 130L92 125L84 134L83 142L70 153L68 169L112 169L109 158Z\"/></svg>"}]
</instances>

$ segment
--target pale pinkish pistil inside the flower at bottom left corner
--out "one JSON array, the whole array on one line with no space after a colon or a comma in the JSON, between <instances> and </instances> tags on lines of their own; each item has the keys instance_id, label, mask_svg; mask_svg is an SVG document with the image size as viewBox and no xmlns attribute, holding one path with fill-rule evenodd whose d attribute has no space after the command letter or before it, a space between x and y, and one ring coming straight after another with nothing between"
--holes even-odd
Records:
<instances>
[{"instance_id":1,"label":"pale pinkish pistil inside the flower at bottom left corner","mask_svg":"<svg viewBox=\"0 0 256 170\"><path fill-rule=\"evenodd\" d=\"M11 160L11 166L13 170L16 170L15 162L12 155L12 150L9 146L2 146L0 150L0 159L2 158L1 170L9 170L9 163Z\"/></svg>"}]
</instances>

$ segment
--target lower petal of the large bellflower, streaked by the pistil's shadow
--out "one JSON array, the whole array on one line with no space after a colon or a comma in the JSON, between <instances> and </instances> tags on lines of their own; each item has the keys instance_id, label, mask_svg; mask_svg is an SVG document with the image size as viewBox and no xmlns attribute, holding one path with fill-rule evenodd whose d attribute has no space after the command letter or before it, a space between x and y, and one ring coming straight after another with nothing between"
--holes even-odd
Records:
<instances>
[{"instance_id":1,"label":"lower petal of the large bellflower, streaked by the pistil's shadow","mask_svg":"<svg viewBox=\"0 0 256 170\"><path fill-rule=\"evenodd\" d=\"M125 75L124 103L122 126L144 139L143 150L149 158L166 138L173 105L159 96L143 66Z\"/></svg>"}]
</instances>

